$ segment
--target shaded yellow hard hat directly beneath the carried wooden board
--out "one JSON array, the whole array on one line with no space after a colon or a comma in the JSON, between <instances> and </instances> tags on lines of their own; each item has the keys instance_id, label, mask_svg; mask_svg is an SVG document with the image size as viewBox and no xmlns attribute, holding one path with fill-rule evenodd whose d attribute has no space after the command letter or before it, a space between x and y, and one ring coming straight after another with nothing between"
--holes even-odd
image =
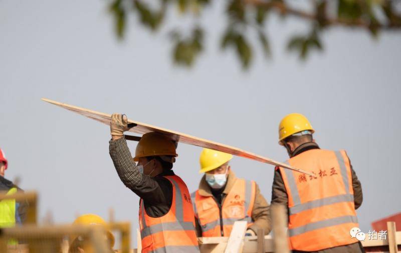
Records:
<instances>
[{"instance_id":1,"label":"shaded yellow hard hat directly beneath the carried wooden board","mask_svg":"<svg viewBox=\"0 0 401 253\"><path fill-rule=\"evenodd\" d=\"M138 162L140 157L148 156L172 156L177 157L175 145L165 135L151 132L142 136L135 150L134 161Z\"/></svg>"}]
</instances>

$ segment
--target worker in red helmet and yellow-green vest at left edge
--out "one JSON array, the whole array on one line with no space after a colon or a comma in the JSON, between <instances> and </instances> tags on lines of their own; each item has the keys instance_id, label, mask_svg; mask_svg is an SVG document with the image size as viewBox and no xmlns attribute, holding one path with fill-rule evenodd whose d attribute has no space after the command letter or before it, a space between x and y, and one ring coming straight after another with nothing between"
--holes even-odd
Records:
<instances>
[{"instance_id":1,"label":"worker in red helmet and yellow-green vest at left edge","mask_svg":"<svg viewBox=\"0 0 401 253\"><path fill-rule=\"evenodd\" d=\"M8 168L8 161L2 149L0 149L0 191L13 194L23 192L10 180L4 176ZM22 224L26 219L28 203L27 201L16 201L15 199L5 199L0 201L0 228L12 227Z\"/></svg>"}]
</instances>

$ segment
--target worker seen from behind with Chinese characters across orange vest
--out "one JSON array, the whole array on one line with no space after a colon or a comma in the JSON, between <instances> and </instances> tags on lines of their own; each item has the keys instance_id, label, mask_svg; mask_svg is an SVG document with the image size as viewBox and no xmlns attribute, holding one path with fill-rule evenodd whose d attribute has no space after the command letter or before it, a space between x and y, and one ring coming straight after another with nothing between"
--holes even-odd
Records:
<instances>
[{"instance_id":1,"label":"worker seen from behind with Chinese characters across orange vest","mask_svg":"<svg viewBox=\"0 0 401 253\"><path fill-rule=\"evenodd\" d=\"M272 205L287 207L293 252L364 252L350 236L358 227L355 209L362 203L361 184L346 152L320 149L314 132L302 114L281 120L279 144L290 157L286 163L314 176L276 167Z\"/></svg>"}]
</instances>

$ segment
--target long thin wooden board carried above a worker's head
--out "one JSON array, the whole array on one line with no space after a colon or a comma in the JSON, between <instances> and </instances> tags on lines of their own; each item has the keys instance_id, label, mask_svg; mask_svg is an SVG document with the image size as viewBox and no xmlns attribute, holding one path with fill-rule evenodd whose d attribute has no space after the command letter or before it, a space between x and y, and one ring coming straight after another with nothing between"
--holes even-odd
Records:
<instances>
[{"instance_id":1,"label":"long thin wooden board carried above a worker's head","mask_svg":"<svg viewBox=\"0 0 401 253\"><path fill-rule=\"evenodd\" d=\"M89 110L86 108L81 108L78 106L74 106L74 105L69 105L69 104L65 104L65 103L60 103L57 101L53 101L50 99L46 99L46 98L42 98L43 101L45 102L49 102L51 104L55 104L57 106L60 106L64 109L70 110L70 111L74 111L76 113L79 113L85 117L97 120L99 122L102 122L104 124L110 125L110 120L111 120L111 114L107 114L107 113L103 113L103 112L98 112L98 111L94 111L94 110ZM173 141L175 142L180 142L180 143L185 143L185 144L189 144L189 145L194 145L194 146L198 146L198 147L203 147L203 148L208 148L208 149L214 149L214 150L218 150L218 151L222 151L225 153L229 153L235 156L239 156L239 157L244 157L244 158L248 158L251 160L255 160L258 162L262 162L262 163L267 163L267 164L271 164L274 166L280 166L283 168L287 168L290 170L294 170L300 173L304 173L310 176L313 176L313 174L311 172L305 171L305 170L301 170L301 169L297 169L294 168L293 166L290 166L288 164L285 163L280 163L277 161L274 161L270 158L267 157L263 157L260 155L256 155L254 153L245 151L245 150L241 150L239 148L235 148L235 147L231 147L225 144L221 144L221 143L217 143L217 142L213 142L213 141L209 141L209 140L205 140L202 138L197 138L194 136L190 136L190 135L186 135L183 133L179 133L176 131L172 131L172 130L168 130L168 129L163 129L163 128L159 128L158 126L154 126L154 125L150 125L150 124L145 124L139 121L134 121L131 119L128 119L128 123L133 123L135 126L133 128L131 128L129 130L129 132L132 133L137 133L137 134L146 134L149 132L159 132L162 133L164 135L169 136Z\"/></svg>"}]
</instances>

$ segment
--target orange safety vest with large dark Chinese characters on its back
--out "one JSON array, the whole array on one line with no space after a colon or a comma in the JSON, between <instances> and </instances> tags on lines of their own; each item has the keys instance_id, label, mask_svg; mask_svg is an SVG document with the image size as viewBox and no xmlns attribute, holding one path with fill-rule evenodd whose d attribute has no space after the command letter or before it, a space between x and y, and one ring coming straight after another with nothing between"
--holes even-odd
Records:
<instances>
[{"instance_id":1,"label":"orange safety vest with large dark Chinese characters on its back","mask_svg":"<svg viewBox=\"0 0 401 253\"><path fill-rule=\"evenodd\" d=\"M315 176L280 168L288 194L292 249L318 251L358 240L351 167L345 151L308 150L288 163Z\"/></svg>"}]
</instances>

